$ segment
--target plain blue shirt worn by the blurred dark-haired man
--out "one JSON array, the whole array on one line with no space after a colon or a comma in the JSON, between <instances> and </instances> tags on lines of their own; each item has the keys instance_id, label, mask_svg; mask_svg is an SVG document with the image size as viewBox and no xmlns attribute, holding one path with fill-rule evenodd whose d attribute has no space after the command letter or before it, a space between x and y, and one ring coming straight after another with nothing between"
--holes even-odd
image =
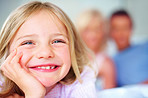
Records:
<instances>
[{"instance_id":1,"label":"plain blue shirt worn by the blurred dark-haired man","mask_svg":"<svg viewBox=\"0 0 148 98\"><path fill-rule=\"evenodd\" d=\"M135 45L114 57L117 85L138 84L148 80L148 42Z\"/></svg>"}]
</instances>

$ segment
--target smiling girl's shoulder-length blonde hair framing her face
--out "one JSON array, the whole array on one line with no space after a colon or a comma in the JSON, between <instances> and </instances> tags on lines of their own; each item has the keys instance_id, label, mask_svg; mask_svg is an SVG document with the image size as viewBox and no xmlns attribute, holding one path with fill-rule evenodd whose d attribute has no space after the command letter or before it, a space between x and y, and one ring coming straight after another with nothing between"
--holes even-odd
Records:
<instances>
[{"instance_id":1,"label":"smiling girl's shoulder-length blonde hair framing her face","mask_svg":"<svg viewBox=\"0 0 148 98\"><path fill-rule=\"evenodd\" d=\"M59 82L62 84L71 84L76 80L76 78L79 80L79 82L82 82L80 78L80 73L82 72L85 65L89 65L87 48L78 36L77 31L68 16L56 5L49 2L42 3L40 1L33 1L17 8L9 15L0 32L0 59L2 60L1 63L9 54L9 43L11 39L15 36L17 30L31 14L42 9L48 10L49 14L51 14L52 16L56 16L64 24L67 30L67 35L70 43L69 45L72 67L66 77ZM24 93L13 81L9 80L5 76L3 77L5 78L5 80L3 82L3 85L1 86L0 97L9 96L13 93L24 96Z\"/></svg>"}]
</instances>

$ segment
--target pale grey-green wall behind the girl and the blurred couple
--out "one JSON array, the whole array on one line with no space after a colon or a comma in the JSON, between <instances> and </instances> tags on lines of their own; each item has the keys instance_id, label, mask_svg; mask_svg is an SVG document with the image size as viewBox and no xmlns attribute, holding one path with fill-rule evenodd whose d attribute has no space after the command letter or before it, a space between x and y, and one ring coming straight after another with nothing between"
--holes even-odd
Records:
<instances>
[{"instance_id":1,"label":"pale grey-green wall behind the girl and the blurred couple","mask_svg":"<svg viewBox=\"0 0 148 98\"><path fill-rule=\"evenodd\" d=\"M19 5L31 0L0 0L0 28L9 13ZM120 8L126 9L134 21L133 44L148 39L148 0L42 0L49 1L62 8L74 22L77 15L85 9L97 8L108 18Z\"/></svg>"}]
</instances>

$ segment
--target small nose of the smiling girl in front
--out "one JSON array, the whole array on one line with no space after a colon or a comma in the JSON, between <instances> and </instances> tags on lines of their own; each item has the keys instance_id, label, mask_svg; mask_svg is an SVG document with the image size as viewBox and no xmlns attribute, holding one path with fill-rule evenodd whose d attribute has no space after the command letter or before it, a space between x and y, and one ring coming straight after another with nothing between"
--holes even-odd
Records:
<instances>
[{"instance_id":1,"label":"small nose of the smiling girl in front","mask_svg":"<svg viewBox=\"0 0 148 98\"><path fill-rule=\"evenodd\" d=\"M48 59L48 58L53 58L54 57L54 52L51 49L51 47L46 46L46 47L41 47L38 49L37 53L36 53L36 57L38 59Z\"/></svg>"}]
</instances>

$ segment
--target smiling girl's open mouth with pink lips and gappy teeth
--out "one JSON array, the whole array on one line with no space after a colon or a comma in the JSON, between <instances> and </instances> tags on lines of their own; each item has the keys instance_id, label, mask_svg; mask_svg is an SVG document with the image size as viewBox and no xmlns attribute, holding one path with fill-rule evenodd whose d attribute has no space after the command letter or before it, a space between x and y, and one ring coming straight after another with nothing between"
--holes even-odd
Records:
<instances>
[{"instance_id":1,"label":"smiling girl's open mouth with pink lips and gappy teeth","mask_svg":"<svg viewBox=\"0 0 148 98\"><path fill-rule=\"evenodd\" d=\"M43 65L36 65L33 67L29 67L29 69L33 69L36 71L41 71L41 72L54 72L56 71L60 65L55 65L55 64L43 64Z\"/></svg>"}]
</instances>

